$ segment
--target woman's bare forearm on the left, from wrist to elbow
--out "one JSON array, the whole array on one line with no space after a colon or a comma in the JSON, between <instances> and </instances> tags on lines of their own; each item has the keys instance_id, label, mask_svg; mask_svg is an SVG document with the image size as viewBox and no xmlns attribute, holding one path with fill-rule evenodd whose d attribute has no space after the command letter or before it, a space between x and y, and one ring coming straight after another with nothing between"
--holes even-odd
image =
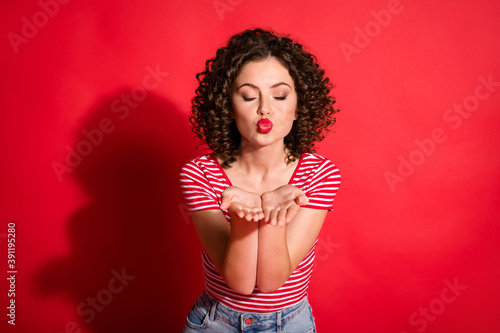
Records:
<instances>
[{"instance_id":1,"label":"woman's bare forearm on the left, from wrist to elbow","mask_svg":"<svg viewBox=\"0 0 500 333\"><path fill-rule=\"evenodd\" d=\"M231 234L222 261L222 276L240 294L253 292L257 275L258 223L232 216Z\"/></svg>"}]
</instances>

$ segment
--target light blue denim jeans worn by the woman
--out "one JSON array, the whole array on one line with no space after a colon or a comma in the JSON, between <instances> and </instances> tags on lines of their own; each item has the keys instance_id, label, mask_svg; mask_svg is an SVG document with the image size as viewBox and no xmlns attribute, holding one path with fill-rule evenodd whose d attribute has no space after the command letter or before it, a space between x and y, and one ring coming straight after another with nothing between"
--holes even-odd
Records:
<instances>
[{"instance_id":1,"label":"light blue denim jeans worn by the woman","mask_svg":"<svg viewBox=\"0 0 500 333\"><path fill-rule=\"evenodd\" d=\"M184 333L191 332L316 332L307 297L294 306L275 312L241 312L210 297L205 291L188 314Z\"/></svg>"}]
</instances>

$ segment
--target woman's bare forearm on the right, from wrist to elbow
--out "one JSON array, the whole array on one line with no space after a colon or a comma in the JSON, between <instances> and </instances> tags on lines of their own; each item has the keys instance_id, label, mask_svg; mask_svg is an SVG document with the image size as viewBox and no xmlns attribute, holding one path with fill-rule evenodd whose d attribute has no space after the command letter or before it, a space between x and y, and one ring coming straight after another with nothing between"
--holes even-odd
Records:
<instances>
[{"instance_id":1,"label":"woman's bare forearm on the right, from wrist to elbow","mask_svg":"<svg viewBox=\"0 0 500 333\"><path fill-rule=\"evenodd\" d=\"M262 292L280 288L293 272L286 229L286 225L278 228L264 221L259 222L257 286Z\"/></svg>"}]
</instances>

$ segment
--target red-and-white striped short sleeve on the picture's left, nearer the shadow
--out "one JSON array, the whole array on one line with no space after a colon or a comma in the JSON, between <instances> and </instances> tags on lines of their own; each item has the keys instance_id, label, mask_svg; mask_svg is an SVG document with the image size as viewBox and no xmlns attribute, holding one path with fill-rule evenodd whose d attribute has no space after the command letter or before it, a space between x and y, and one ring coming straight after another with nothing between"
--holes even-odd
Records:
<instances>
[{"instance_id":1,"label":"red-and-white striped short sleeve on the picture's left, nearer the shadow","mask_svg":"<svg viewBox=\"0 0 500 333\"><path fill-rule=\"evenodd\" d=\"M203 170L193 161L181 169L180 185L189 212L220 209L214 188Z\"/></svg>"}]
</instances>

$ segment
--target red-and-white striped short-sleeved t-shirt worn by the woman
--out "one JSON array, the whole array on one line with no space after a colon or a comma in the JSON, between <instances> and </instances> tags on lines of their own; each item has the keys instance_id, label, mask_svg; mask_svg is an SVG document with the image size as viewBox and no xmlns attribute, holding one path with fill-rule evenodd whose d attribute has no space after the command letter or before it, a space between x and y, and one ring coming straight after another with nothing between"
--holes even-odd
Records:
<instances>
[{"instance_id":1,"label":"red-and-white striped short-sleeved t-shirt worn by the woman","mask_svg":"<svg viewBox=\"0 0 500 333\"><path fill-rule=\"evenodd\" d=\"M221 194L231 186L229 178L213 155L204 155L188 162L182 168L180 182L190 212L220 210ZM309 203L301 208L331 210L340 184L340 173L328 159L305 153L288 184L300 188L309 198ZM223 210L223 213L230 223L229 212ZM316 243L317 240L282 287L273 292L262 293L255 286L250 295L242 295L229 288L202 249L205 289L210 296L238 311L272 312L295 305L306 296Z\"/></svg>"}]
</instances>

